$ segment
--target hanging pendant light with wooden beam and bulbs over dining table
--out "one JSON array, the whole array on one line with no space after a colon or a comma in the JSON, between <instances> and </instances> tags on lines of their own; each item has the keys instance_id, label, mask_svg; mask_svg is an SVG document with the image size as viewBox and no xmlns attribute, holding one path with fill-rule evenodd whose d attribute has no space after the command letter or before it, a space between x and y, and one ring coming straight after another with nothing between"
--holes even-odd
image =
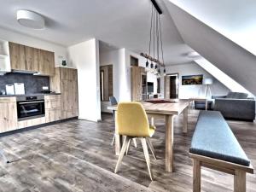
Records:
<instances>
[{"instance_id":1,"label":"hanging pendant light with wooden beam and bulbs over dining table","mask_svg":"<svg viewBox=\"0 0 256 192\"><path fill-rule=\"evenodd\" d=\"M163 42L162 42L161 22L160 22L160 15L162 15L162 11L158 6L158 4L155 2L155 0L151 0L151 3L152 3L152 9L151 9L151 22L150 22L149 49L148 49L148 54L141 53L141 55L147 59L146 71L147 72L149 71L154 74L158 74L160 70L158 70L157 65L159 65L159 68L164 67L164 71L166 71L165 70L166 66L164 61ZM152 51L153 53L151 53L152 47L153 47L153 51ZM151 54L153 54L153 56ZM150 67L148 66L148 60L151 61ZM152 62L155 63L155 67Z\"/></svg>"}]
</instances>

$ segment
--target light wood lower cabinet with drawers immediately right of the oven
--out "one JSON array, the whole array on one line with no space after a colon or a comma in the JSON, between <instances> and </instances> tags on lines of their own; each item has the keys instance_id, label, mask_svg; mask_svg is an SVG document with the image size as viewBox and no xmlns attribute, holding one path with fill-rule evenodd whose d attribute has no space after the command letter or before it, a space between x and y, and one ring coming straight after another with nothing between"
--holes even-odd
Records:
<instances>
[{"instance_id":1,"label":"light wood lower cabinet with drawers immediately right of the oven","mask_svg":"<svg viewBox=\"0 0 256 192\"><path fill-rule=\"evenodd\" d=\"M61 119L61 95L44 96L45 122Z\"/></svg>"}]
</instances>

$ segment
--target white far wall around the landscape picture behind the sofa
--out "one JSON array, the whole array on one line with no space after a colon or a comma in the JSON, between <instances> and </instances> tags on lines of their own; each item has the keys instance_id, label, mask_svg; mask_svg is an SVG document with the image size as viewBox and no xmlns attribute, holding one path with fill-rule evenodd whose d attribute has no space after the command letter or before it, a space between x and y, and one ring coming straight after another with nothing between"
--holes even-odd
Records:
<instances>
[{"instance_id":1,"label":"white far wall around the landscape picture behind the sofa","mask_svg":"<svg viewBox=\"0 0 256 192\"><path fill-rule=\"evenodd\" d=\"M212 77L210 73L207 73L202 67L196 63L179 64L174 66L166 67L166 73L178 73L179 76L179 86L178 86L178 97L180 99L188 99L189 97L205 96L206 85L204 84L194 84L194 85L182 85L183 75L197 75L203 74L204 78L213 79L213 84L210 85L212 95L226 95L229 89L221 84L217 79ZM161 90L164 90L163 80L161 82Z\"/></svg>"}]
</instances>

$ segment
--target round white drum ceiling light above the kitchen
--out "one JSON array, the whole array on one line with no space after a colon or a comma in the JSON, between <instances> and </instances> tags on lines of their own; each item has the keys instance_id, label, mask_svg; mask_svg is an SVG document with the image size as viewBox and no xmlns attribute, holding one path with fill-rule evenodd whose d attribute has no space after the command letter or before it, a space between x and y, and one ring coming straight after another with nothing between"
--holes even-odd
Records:
<instances>
[{"instance_id":1,"label":"round white drum ceiling light above the kitchen","mask_svg":"<svg viewBox=\"0 0 256 192\"><path fill-rule=\"evenodd\" d=\"M32 29L44 28L44 17L29 10L18 10L17 20L21 26L26 26Z\"/></svg>"}]
</instances>

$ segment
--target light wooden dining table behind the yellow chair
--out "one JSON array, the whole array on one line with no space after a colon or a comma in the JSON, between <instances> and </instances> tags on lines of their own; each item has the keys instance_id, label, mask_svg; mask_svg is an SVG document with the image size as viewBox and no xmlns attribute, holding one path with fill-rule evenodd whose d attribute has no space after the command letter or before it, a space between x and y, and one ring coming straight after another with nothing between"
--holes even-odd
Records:
<instances>
[{"instance_id":1,"label":"light wooden dining table behind the yellow chair","mask_svg":"<svg viewBox=\"0 0 256 192\"><path fill-rule=\"evenodd\" d=\"M155 118L166 119L166 172L173 172L173 119L183 113L183 132L188 129L188 108L189 100L160 100L153 99L141 102L143 107L154 124ZM117 105L109 106L108 109L117 111ZM118 112L117 112L118 113ZM117 114L115 113L115 114ZM122 136L118 134L118 126L115 123L115 154L119 155L122 147Z\"/></svg>"}]
</instances>

